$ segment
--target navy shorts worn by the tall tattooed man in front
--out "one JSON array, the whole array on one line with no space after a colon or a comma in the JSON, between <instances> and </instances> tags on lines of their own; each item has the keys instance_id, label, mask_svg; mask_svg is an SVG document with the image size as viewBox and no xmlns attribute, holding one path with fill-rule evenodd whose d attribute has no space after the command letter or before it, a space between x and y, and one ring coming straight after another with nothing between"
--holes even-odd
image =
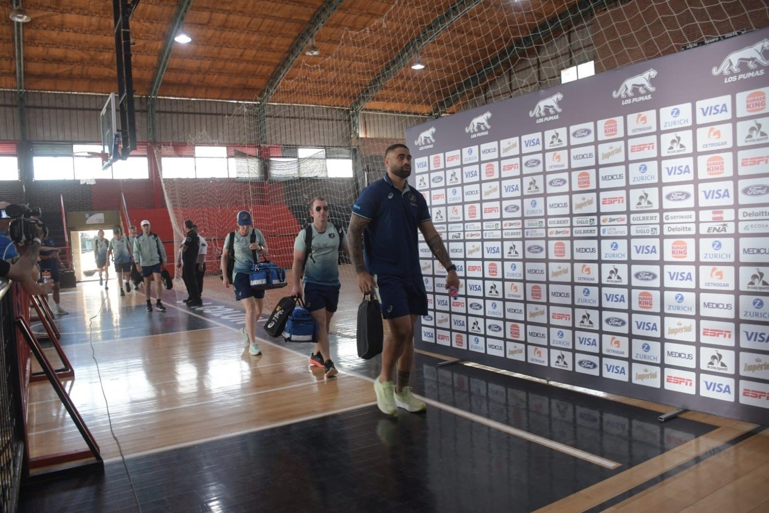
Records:
<instances>
[{"instance_id":1,"label":"navy shorts worn by the tall tattooed man in front","mask_svg":"<svg viewBox=\"0 0 769 513\"><path fill-rule=\"evenodd\" d=\"M428 314L428 295L420 275L377 274L374 279L385 319Z\"/></svg>"}]
</instances>

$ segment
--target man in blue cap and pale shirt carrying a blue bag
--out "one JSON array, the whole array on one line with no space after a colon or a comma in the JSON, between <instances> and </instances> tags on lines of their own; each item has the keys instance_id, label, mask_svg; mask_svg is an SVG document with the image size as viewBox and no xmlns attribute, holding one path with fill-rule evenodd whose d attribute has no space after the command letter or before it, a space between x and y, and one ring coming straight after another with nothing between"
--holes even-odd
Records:
<instances>
[{"instance_id":1,"label":"man in blue cap and pale shirt carrying a blue bag","mask_svg":"<svg viewBox=\"0 0 769 513\"><path fill-rule=\"evenodd\" d=\"M245 328L243 338L248 344L251 356L261 354L256 343L256 322L265 306L265 291L251 289L251 265L258 259L257 253L267 256L267 241L259 230L254 228L251 213L247 210L238 212L238 230L231 232L225 238L225 246L221 250L221 280L225 287L235 288L235 300L242 301L245 307ZM228 273L228 263L234 260L232 274Z\"/></svg>"}]
</instances>

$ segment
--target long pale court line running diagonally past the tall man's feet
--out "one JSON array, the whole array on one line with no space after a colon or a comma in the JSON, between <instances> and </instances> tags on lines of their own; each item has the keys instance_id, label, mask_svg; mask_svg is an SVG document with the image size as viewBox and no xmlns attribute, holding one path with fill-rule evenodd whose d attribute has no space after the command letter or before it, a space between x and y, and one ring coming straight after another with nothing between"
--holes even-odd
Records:
<instances>
[{"instance_id":1,"label":"long pale court line running diagonally past the tall man's feet","mask_svg":"<svg viewBox=\"0 0 769 513\"><path fill-rule=\"evenodd\" d=\"M212 323L218 324L221 327L226 327L229 330L235 330L235 331L238 331L238 332L240 331L238 328L228 326L228 325L226 325L224 323L220 323L217 320L209 319L208 317L203 317L203 316L201 316L199 314L195 314L194 311L181 310L181 308L179 308L179 307L177 307L177 306L175 306L173 304L170 304L170 303L168 304L168 306L176 308L177 310L180 310L180 311L184 311L184 312L186 312L189 315L194 315L196 317L200 317L201 319L205 319L205 320L211 321ZM283 346L275 344L275 342L272 342L271 340L267 340L265 338L258 337L258 339L264 341L267 344L270 344L273 347L277 347L278 349L288 350L288 351L291 351L292 353L300 354L301 355L301 353L298 350L291 349L290 347L283 347ZM363 379L365 381L369 381L370 383L374 383L374 380L371 377L363 376L362 374L358 374L357 372L346 371L346 370L341 370L340 372L344 373L344 374L351 374L353 376L360 377L361 379ZM622 466L617 461L611 461L611 460L609 460L607 458L601 458L601 456L598 456L596 454L591 454L591 453L589 453L587 451L582 451L581 449L573 448L573 447L571 447L569 445L566 445L566 444L561 444L560 442L551 440L550 438L544 438L544 437L539 436L538 434L533 434L533 433L529 433L528 431L523 431L523 430L518 429L518 428L513 428L512 426L508 426L508 424L502 424L501 422L492 421L491 419L488 419L486 417L481 417L478 414L473 414L473 413L470 413L469 411L464 411L464 410L461 410L461 409L459 409L457 407L449 406L448 404L444 404L444 403L441 403L441 402L438 402L438 401L434 401L433 399L431 399L429 397L424 397L424 396L417 395L417 394L414 394L414 396L415 397L419 397L425 403L430 404L431 406L437 407L437 408L439 408L441 410L448 411L448 412L450 412L452 414L455 414L455 415L458 415L460 417L467 418L470 421L478 422L478 424L484 424L488 428L497 429L499 431L503 431L504 433L511 434L511 435L516 436L518 438L523 438L524 440L531 441L531 442L533 442L535 444L544 445L547 448L551 448L554 451L559 451L559 452L562 452L564 454L568 454L568 455L570 455L570 456L572 456L574 458L579 458L581 460L588 461L588 462L590 462L592 464L600 465L601 467L604 467L604 468L614 469L614 468L618 468L618 467Z\"/></svg>"}]
</instances>

